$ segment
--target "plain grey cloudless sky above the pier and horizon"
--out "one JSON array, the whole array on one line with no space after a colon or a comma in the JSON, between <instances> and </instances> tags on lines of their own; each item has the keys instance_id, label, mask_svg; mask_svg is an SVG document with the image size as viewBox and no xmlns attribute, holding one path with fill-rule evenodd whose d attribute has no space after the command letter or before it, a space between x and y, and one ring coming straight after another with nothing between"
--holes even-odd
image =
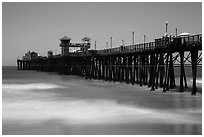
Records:
<instances>
[{"instance_id":1,"label":"plain grey cloudless sky above the pier and horizon","mask_svg":"<svg viewBox=\"0 0 204 137\"><path fill-rule=\"evenodd\" d=\"M16 59L27 51L47 55L48 50L60 53L59 39L65 35L71 42L91 38L91 49L146 42L165 34L202 33L201 2L103 2L103 3L14 3L2 4L2 65L15 66ZM108 45L110 47L110 44Z\"/></svg>"}]
</instances>

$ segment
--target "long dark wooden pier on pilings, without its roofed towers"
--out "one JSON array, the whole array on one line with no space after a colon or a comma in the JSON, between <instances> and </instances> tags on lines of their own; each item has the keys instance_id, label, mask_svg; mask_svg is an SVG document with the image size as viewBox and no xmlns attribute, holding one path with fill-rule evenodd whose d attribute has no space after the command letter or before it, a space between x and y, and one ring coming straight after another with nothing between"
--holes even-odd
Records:
<instances>
[{"instance_id":1,"label":"long dark wooden pier on pilings, without its roofed towers","mask_svg":"<svg viewBox=\"0 0 204 137\"><path fill-rule=\"evenodd\" d=\"M63 45L66 43L62 43ZM120 46L104 50L86 50L68 55L17 60L18 70L58 72L86 79L127 82L158 87L163 92L175 88L174 68L180 68L179 91L187 87L185 66L192 68L192 95L197 92L197 67L202 65L202 34L164 36L154 42Z\"/></svg>"}]
</instances>

